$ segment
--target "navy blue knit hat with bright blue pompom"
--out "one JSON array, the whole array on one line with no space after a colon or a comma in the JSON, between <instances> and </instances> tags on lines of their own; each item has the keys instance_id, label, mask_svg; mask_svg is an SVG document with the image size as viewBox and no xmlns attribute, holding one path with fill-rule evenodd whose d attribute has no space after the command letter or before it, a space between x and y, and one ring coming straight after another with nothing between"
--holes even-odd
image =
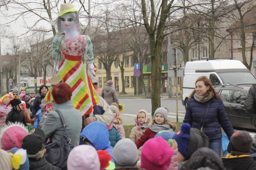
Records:
<instances>
[{"instance_id":1,"label":"navy blue knit hat with bright blue pompom","mask_svg":"<svg viewBox=\"0 0 256 170\"><path fill-rule=\"evenodd\" d=\"M190 124L183 123L180 127L180 133L174 134L172 139L175 139L178 144L178 151L186 158L188 154L188 144L190 139Z\"/></svg>"}]
</instances>

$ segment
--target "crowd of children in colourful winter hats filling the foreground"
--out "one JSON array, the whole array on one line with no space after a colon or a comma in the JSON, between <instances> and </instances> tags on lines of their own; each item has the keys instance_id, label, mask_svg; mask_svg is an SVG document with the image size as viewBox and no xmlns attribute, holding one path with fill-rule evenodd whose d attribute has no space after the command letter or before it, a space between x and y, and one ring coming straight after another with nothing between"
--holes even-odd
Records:
<instances>
[{"instance_id":1,"label":"crowd of children in colourful winter hats filling the foreground","mask_svg":"<svg viewBox=\"0 0 256 170\"><path fill-rule=\"evenodd\" d=\"M43 99L30 119L34 97L34 91L19 94L14 89L0 98L0 170L60 170L44 158L46 137L41 129L54 103ZM183 123L175 132L165 107L156 109L151 122L146 110L138 111L129 138L118 104L108 107L112 122L106 126L93 121L82 129L82 143L71 150L68 170L256 170L256 135L236 131L229 153L221 158L209 149L208 137L190 124Z\"/></svg>"}]
</instances>

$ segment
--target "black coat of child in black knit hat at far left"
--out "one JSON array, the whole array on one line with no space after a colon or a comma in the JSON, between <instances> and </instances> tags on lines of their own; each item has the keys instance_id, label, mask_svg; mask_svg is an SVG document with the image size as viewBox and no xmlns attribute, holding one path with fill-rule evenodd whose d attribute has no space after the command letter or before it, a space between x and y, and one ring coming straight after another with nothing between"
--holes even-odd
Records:
<instances>
[{"instance_id":1,"label":"black coat of child in black knit hat at far left","mask_svg":"<svg viewBox=\"0 0 256 170\"><path fill-rule=\"evenodd\" d=\"M8 124L8 122L20 122L23 123L25 126L27 125L25 116L22 111L17 111L16 109L12 109L6 116L5 124Z\"/></svg>"}]
</instances>

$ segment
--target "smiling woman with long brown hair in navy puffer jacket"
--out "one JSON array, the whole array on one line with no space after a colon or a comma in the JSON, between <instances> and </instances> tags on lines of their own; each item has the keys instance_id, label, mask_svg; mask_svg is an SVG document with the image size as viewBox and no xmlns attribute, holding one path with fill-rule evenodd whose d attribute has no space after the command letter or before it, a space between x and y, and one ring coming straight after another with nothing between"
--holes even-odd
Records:
<instances>
[{"instance_id":1,"label":"smiling woman with long brown hair in navy puffer jacket","mask_svg":"<svg viewBox=\"0 0 256 170\"><path fill-rule=\"evenodd\" d=\"M206 110L208 111L206 113ZM221 155L221 127L230 139L234 129L227 117L224 104L206 76L196 80L196 88L190 94L183 123L200 129L209 139L209 148Z\"/></svg>"}]
</instances>

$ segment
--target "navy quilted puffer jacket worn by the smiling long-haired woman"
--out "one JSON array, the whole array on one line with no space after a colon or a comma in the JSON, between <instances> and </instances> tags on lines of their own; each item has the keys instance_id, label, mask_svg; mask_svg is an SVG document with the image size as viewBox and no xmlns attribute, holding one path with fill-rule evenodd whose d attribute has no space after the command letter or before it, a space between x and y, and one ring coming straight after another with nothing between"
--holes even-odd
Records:
<instances>
[{"instance_id":1,"label":"navy quilted puffer jacket worn by the smiling long-haired woman","mask_svg":"<svg viewBox=\"0 0 256 170\"><path fill-rule=\"evenodd\" d=\"M211 103L204 121L206 109L210 101ZM229 139L234 133L234 129L228 119L221 99L212 98L205 103L197 102L194 97L188 100L183 123L189 123L191 127L200 130L203 121L203 132L210 139L210 141L222 138L221 127Z\"/></svg>"}]
</instances>

